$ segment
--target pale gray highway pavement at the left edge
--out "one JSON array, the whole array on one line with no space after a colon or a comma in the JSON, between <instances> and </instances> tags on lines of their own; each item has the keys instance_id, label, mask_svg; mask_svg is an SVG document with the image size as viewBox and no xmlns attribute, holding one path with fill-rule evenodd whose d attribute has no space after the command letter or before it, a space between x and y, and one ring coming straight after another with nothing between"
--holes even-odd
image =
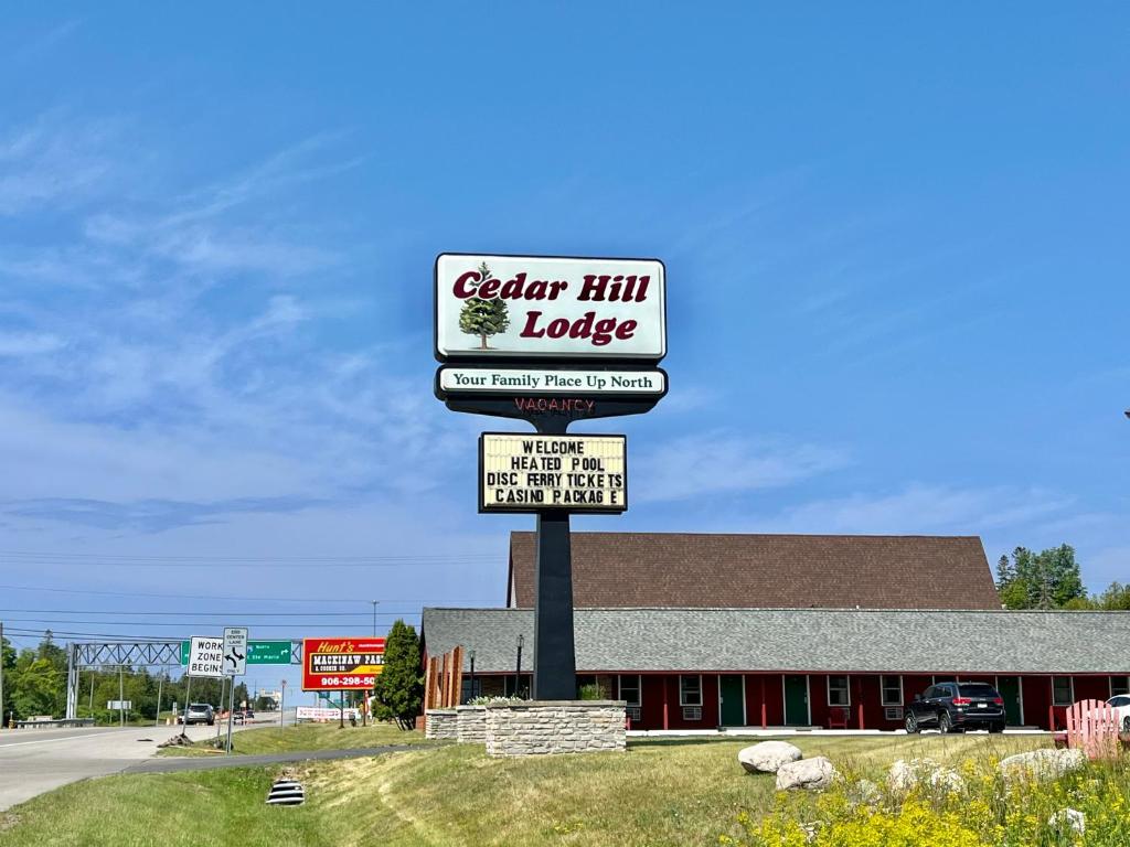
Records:
<instances>
[{"instance_id":1,"label":"pale gray highway pavement at the left edge","mask_svg":"<svg viewBox=\"0 0 1130 847\"><path fill-rule=\"evenodd\" d=\"M287 723L294 713L287 709ZM260 717L267 717L260 714ZM253 723L245 728L269 726ZM88 777L125 770L157 752L179 726L90 726L71 730L0 731L0 812L37 794ZM226 726L224 727L226 730ZM240 726L235 730L238 731ZM190 726L193 741L214 737L215 726Z\"/></svg>"}]
</instances>

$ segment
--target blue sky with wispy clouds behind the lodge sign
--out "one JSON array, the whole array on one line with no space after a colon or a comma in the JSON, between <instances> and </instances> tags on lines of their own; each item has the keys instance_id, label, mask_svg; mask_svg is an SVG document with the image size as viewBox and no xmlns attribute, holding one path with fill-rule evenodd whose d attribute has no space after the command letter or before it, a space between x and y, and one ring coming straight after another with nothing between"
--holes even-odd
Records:
<instances>
[{"instance_id":1,"label":"blue sky with wispy clouds behind the lodge sign","mask_svg":"<svg viewBox=\"0 0 1130 847\"><path fill-rule=\"evenodd\" d=\"M666 261L671 394L615 422L632 508L581 529L1066 541L1125 580L1128 25L7 10L0 617L501 603L533 519L476 513L496 424L432 396L442 251ZM55 628L154 631L115 620Z\"/></svg>"}]
</instances>

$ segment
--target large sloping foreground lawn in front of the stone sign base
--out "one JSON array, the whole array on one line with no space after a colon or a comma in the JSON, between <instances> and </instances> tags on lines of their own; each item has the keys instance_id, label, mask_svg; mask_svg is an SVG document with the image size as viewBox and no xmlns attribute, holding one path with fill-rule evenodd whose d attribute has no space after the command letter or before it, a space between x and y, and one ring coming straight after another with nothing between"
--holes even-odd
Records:
<instances>
[{"instance_id":1,"label":"large sloping foreground lawn in front of the stone sign base","mask_svg":"<svg viewBox=\"0 0 1130 847\"><path fill-rule=\"evenodd\" d=\"M323 745L330 744L330 730L342 732L299 728L324 739ZM307 793L306 804L296 809L263 803L281 768L106 777L16 806L10 815L17 821L6 831L0 823L0 842L128 847L150 845L159 832L163 847L340 847L373 839L401 847L718 844L720 835L733 831L739 811L759 815L773 802L774 778L746 775L737 762L738 750L755 741L649 740L623 754L514 760L445 745L308 762L290 768ZM1049 743L984 735L790 741L806 756L825 754L841 767L876 775L901 757L958 762Z\"/></svg>"}]
</instances>

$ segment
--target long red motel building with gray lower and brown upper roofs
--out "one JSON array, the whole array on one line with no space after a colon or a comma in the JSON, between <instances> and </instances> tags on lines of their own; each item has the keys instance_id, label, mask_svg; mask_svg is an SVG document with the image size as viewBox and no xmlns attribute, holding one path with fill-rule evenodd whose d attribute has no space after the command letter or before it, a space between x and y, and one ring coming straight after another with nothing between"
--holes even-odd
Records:
<instances>
[{"instance_id":1,"label":"long red motel building with gray lower and brown upper roofs","mask_svg":"<svg viewBox=\"0 0 1130 847\"><path fill-rule=\"evenodd\" d=\"M424 610L425 661L463 647L464 699L529 690L533 560L515 532L504 608ZM577 686L633 730L897 730L945 681L1049 730L1130 691L1130 613L1002 610L975 536L573 533L573 591Z\"/></svg>"}]
</instances>

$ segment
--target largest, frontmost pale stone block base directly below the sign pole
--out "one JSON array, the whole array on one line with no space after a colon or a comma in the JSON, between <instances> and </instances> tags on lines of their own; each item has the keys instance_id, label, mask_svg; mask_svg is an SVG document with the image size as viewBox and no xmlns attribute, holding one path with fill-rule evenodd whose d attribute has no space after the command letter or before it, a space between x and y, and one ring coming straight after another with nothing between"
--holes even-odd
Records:
<instances>
[{"instance_id":1,"label":"largest, frontmost pale stone block base directly below the sign pole","mask_svg":"<svg viewBox=\"0 0 1130 847\"><path fill-rule=\"evenodd\" d=\"M623 700L492 704L484 708L487 756L624 750L627 745L624 709Z\"/></svg>"}]
</instances>

